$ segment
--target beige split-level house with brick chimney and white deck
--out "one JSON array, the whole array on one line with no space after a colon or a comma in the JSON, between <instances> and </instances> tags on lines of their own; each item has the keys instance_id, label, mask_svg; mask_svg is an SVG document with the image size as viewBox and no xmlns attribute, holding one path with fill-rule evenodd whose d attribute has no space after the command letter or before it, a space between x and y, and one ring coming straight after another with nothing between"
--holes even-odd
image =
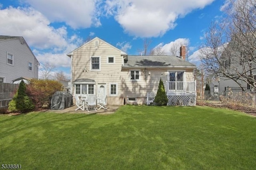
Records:
<instances>
[{"instance_id":1,"label":"beige split-level house with brick chimney and white deck","mask_svg":"<svg viewBox=\"0 0 256 170\"><path fill-rule=\"evenodd\" d=\"M195 105L196 66L180 56L134 56L96 37L67 54L71 58L71 94L97 98L107 104L154 104L162 78L168 105Z\"/></svg>"}]
</instances>

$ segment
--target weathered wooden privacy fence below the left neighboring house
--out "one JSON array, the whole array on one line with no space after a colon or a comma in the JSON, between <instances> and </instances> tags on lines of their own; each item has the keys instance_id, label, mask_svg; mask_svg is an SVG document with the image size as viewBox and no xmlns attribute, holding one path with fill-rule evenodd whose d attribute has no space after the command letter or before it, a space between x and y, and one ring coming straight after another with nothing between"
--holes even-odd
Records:
<instances>
[{"instance_id":1,"label":"weathered wooden privacy fence below the left neighboring house","mask_svg":"<svg viewBox=\"0 0 256 170\"><path fill-rule=\"evenodd\" d=\"M19 84L0 83L0 108L8 108Z\"/></svg>"}]
</instances>

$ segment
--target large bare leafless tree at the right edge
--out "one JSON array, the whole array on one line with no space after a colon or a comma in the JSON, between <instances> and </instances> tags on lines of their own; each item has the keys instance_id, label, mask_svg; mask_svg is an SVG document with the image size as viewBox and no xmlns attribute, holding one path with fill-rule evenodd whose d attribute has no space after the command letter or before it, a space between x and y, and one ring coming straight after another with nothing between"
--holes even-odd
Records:
<instances>
[{"instance_id":1,"label":"large bare leafless tree at the right edge","mask_svg":"<svg viewBox=\"0 0 256 170\"><path fill-rule=\"evenodd\" d=\"M256 1L228 0L226 18L210 25L200 48L204 68L256 89Z\"/></svg>"}]
</instances>

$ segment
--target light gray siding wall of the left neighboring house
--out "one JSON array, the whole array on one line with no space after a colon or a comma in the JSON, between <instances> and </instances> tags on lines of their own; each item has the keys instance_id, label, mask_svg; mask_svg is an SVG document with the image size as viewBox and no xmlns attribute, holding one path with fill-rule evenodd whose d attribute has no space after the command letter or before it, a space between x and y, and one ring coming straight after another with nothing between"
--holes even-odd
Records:
<instances>
[{"instance_id":1,"label":"light gray siding wall of the left neighboring house","mask_svg":"<svg viewBox=\"0 0 256 170\"><path fill-rule=\"evenodd\" d=\"M13 65L7 64L7 53L13 55ZM32 71L28 70L28 62L32 62ZM0 41L0 77L5 77L6 83L20 77L38 78L37 61L20 39Z\"/></svg>"}]
</instances>

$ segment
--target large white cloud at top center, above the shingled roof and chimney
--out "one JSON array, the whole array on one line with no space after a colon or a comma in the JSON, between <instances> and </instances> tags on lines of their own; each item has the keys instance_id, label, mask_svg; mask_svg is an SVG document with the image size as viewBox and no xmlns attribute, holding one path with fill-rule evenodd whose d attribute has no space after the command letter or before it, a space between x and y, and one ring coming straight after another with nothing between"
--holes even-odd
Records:
<instances>
[{"instance_id":1,"label":"large white cloud at top center, above the shingled roof and chimney","mask_svg":"<svg viewBox=\"0 0 256 170\"><path fill-rule=\"evenodd\" d=\"M126 33L158 37L176 26L175 21L214 0L106 0L107 15L115 16Z\"/></svg>"}]
</instances>

